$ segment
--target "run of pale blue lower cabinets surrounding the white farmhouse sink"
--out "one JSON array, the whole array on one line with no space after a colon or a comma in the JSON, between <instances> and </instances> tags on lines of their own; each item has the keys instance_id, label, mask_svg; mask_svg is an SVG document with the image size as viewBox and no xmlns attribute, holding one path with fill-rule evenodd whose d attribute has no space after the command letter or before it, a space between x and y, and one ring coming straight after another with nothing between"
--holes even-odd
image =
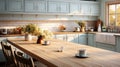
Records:
<instances>
[{"instance_id":1,"label":"run of pale blue lower cabinets surrounding the white farmhouse sink","mask_svg":"<svg viewBox=\"0 0 120 67\"><path fill-rule=\"evenodd\" d=\"M59 40L120 52L120 36L115 37L115 44L96 41L96 34L94 33L56 34L54 37Z\"/></svg>"}]
</instances>

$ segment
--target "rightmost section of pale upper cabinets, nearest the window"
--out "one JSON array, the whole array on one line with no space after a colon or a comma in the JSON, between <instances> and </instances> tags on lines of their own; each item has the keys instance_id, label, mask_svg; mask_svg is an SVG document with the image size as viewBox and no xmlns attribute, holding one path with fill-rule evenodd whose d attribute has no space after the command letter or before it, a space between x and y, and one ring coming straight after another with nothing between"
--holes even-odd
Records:
<instances>
[{"instance_id":1,"label":"rightmost section of pale upper cabinets, nearest the window","mask_svg":"<svg viewBox=\"0 0 120 67\"><path fill-rule=\"evenodd\" d=\"M99 15L99 3L98 2L78 2L70 3L70 14L71 15Z\"/></svg>"}]
</instances>

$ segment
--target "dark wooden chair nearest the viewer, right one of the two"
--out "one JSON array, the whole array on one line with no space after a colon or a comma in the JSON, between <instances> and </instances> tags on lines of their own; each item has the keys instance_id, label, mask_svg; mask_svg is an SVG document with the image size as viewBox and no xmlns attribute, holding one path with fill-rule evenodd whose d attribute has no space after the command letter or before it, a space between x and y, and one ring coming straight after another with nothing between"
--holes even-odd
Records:
<instances>
[{"instance_id":1,"label":"dark wooden chair nearest the viewer, right one of the two","mask_svg":"<svg viewBox=\"0 0 120 67\"><path fill-rule=\"evenodd\" d=\"M24 58L18 51L14 51L14 54L17 61L17 67L35 67L32 58Z\"/></svg>"}]
</instances>

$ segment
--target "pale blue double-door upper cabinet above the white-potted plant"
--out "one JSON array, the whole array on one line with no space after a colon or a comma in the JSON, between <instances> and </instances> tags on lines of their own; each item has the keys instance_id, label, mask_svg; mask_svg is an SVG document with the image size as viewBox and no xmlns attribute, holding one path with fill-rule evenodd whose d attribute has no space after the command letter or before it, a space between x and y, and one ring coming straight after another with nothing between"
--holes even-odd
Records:
<instances>
[{"instance_id":1,"label":"pale blue double-door upper cabinet above the white-potted plant","mask_svg":"<svg viewBox=\"0 0 120 67\"><path fill-rule=\"evenodd\" d=\"M25 12L46 12L46 1L25 0Z\"/></svg>"}]
</instances>

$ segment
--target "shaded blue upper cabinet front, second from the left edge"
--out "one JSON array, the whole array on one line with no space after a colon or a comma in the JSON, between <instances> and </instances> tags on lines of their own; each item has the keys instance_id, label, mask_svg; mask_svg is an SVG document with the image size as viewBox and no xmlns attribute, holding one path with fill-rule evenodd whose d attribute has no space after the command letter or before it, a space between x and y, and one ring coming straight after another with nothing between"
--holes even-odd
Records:
<instances>
[{"instance_id":1,"label":"shaded blue upper cabinet front, second from the left edge","mask_svg":"<svg viewBox=\"0 0 120 67\"><path fill-rule=\"evenodd\" d=\"M8 11L23 11L23 0L7 0Z\"/></svg>"}]
</instances>

